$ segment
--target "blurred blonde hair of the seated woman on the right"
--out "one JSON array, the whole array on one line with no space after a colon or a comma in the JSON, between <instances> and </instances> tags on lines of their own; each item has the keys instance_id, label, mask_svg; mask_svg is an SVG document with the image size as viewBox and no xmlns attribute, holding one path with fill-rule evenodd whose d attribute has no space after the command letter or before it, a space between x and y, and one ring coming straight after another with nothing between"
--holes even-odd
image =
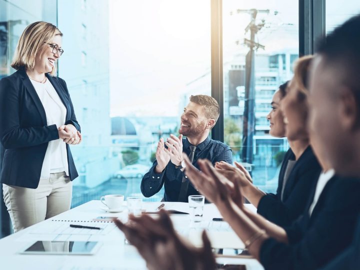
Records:
<instances>
[{"instance_id":1,"label":"blurred blonde hair of the seated woman on the right","mask_svg":"<svg viewBox=\"0 0 360 270\"><path fill-rule=\"evenodd\" d=\"M293 80L296 82L300 99L305 99L308 94L308 73L313 58L313 55L302 56L294 63Z\"/></svg>"}]
</instances>

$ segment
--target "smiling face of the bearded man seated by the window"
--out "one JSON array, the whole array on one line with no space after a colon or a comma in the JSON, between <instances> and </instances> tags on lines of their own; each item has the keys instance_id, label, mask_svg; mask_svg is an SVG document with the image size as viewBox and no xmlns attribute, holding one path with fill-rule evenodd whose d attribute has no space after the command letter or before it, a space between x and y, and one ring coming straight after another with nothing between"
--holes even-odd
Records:
<instances>
[{"instance_id":1,"label":"smiling face of the bearded man seated by the window","mask_svg":"<svg viewBox=\"0 0 360 270\"><path fill-rule=\"evenodd\" d=\"M209 130L206 118L205 106L189 102L181 114L181 125L178 132L184 136L191 137L202 135ZM207 131L208 132L208 131Z\"/></svg>"}]
</instances>

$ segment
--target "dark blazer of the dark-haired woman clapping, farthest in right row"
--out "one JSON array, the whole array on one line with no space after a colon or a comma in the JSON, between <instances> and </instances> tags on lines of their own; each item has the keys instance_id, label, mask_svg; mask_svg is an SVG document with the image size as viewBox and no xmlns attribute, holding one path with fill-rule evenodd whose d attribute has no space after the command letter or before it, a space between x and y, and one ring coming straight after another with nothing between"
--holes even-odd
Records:
<instances>
[{"instance_id":1,"label":"dark blazer of the dark-haired woman clapping, farthest in right row","mask_svg":"<svg viewBox=\"0 0 360 270\"><path fill-rule=\"evenodd\" d=\"M316 188L321 166L308 146L293 166L284 186L283 199L281 190L288 160L295 156L288 149L279 173L276 194L268 193L260 199L257 213L279 226L288 226L304 211L311 192Z\"/></svg>"}]
</instances>

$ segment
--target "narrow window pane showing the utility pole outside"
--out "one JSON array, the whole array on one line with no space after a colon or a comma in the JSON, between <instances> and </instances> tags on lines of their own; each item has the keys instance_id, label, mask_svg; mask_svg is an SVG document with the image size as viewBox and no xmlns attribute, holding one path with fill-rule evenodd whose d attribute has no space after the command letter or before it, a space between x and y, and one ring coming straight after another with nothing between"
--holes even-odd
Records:
<instances>
[{"instance_id":1,"label":"narrow window pane showing the utility pole outside","mask_svg":"<svg viewBox=\"0 0 360 270\"><path fill-rule=\"evenodd\" d=\"M273 93L291 78L298 57L298 1L222 3L224 140L233 159L251 169L254 184L275 191L288 144L268 134L266 115ZM258 29L252 38L251 17ZM250 45L255 46L253 58Z\"/></svg>"}]
</instances>

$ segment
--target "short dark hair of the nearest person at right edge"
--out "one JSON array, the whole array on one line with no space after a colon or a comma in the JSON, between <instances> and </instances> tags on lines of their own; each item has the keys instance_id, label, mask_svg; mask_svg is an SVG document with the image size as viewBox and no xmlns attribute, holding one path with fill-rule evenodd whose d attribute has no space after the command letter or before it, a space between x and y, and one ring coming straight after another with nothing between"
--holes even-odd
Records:
<instances>
[{"instance_id":1,"label":"short dark hair of the nearest person at right edge","mask_svg":"<svg viewBox=\"0 0 360 270\"><path fill-rule=\"evenodd\" d=\"M360 15L320 40L317 53L324 56L324 68L332 67L341 73L340 83L351 89L360 106Z\"/></svg>"}]
</instances>

